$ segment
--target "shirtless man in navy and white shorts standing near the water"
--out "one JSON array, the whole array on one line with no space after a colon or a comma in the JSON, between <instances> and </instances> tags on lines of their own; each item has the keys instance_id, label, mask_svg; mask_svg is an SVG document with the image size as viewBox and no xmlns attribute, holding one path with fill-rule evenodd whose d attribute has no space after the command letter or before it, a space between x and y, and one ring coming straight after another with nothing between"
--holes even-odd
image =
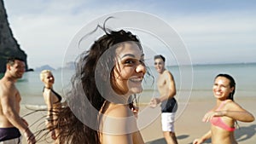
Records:
<instances>
[{"instance_id":1,"label":"shirtless man in navy and white shorts standing near the water","mask_svg":"<svg viewBox=\"0 0 256 144\"><path fill-rule=\"evenodd\" d=\"M154 56L154 68L159 73L157 88L160 93L159 98L153 98L150 101L150 107L156 107L161 103L161 123L162 130L168 144L177 144L177 138L174 133L175 112L177 111L177 101L175 82L172 73L166 70L165 57L162 55Z\"/></svg>"}]
</instances>

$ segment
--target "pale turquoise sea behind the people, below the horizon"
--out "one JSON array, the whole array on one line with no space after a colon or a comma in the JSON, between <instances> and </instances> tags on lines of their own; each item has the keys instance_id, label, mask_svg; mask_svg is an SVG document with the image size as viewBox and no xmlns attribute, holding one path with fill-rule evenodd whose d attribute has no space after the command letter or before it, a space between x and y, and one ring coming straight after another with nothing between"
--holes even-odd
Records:
<instances>
[{"instance_id":1,"label":"pale turquoise sea behind the people, below the horizon","mask_svg":"<svg viewBox=\"0 0 256 144\"><path fill-rule=\"evenodd\" d=\"M155 79L157 79L157 72L154 67L148 67L151 73L150 77L146 77L143 82L143 93L138 95L139 102L148 103L154 96L158 96L155 89ZM209 99L212 97L213 78L218 73L228 73L236 80L236 94L235 98L250 98L256 96L256 63L251 64L219 64L219 65L196 65L191 67L191 72L183 76L181 74L180 66L167 66L167 69L172 72L175 78L177 87L178 101L192 101L196 99ZM44 84L39 79L40 72L26 72L23 78L16 83L20 90L22 97L22 104L26 105L44 105L42 90ZM53 71L55 76L54 89L63 97L64 90L70 83L70 78L73 76L72 70L57 70ZM3 77L3 74L0 74ZM183 78L183 80L181 80ZM192 81L186 79L192 78ZM183 92L186 93L183 93ZM196 94L196 95L195 95ZM201 95L197 95L201 94Z\"/></svg>"}]
</instances>

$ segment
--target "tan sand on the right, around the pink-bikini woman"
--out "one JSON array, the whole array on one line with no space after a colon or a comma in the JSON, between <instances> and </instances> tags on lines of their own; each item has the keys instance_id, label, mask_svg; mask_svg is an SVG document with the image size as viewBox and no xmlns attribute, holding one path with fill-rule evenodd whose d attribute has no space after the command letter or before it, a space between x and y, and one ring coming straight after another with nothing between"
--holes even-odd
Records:
<instances>
[{"instance_id":1,"label":"tan sand on the right, around the pink-bikini woman","mask_svg":"<svg viewBox=\"0 0 256 144\"><path fill-rule=\"evenodd\" d=\"M253 100L237 100L237 102L255 117L255 101ZM195 138L200 137L210 130L209 123L203 123L201 118L204 114L214 106L215 101L191 101L186 107L183 114L177 118L175 130L177 141L180 144L190 144ZM239 144L255 144L256 141L256 122L242 123L238 122L240 130L236 130L236 141ZM147 144L166 144L161 133L160 118L150 124L146 129L142 130L144 141ZM206 141L205 143L211 143Z\"/></svg>"}]
</instances>

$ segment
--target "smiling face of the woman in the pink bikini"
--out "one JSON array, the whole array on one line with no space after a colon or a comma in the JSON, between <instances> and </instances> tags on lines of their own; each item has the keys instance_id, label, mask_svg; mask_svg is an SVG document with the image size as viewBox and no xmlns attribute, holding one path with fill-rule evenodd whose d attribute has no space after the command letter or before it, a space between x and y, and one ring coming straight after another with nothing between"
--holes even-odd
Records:
<instances>
[{"instance_id":1,"label":"smiling face of the woman in the pink bikini","mask_svg":"<svg viewBox=\"0 0 256 144\"><path fill-rule=\"evenodd\" d=\"M218 77L215 79L212 90L216 98L225 100L233 92L234 87L230 88L230 79Z\"/></svg>"}]
</instances>

